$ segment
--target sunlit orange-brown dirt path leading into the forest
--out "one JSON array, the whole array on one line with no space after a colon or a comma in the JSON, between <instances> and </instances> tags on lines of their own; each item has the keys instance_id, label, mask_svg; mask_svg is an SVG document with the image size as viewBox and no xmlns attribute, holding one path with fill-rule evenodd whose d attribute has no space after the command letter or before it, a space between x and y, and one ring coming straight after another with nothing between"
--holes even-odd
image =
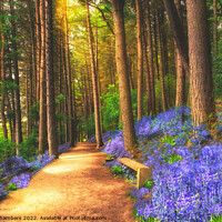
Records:
<instances>
[{"instance_id":1,"label":"sunlit orange-brown dirt path leading into the forest","mask_svg":"<svg viewBox=\"0 0 222 222\"><path fill-rule=\"evenodd\" d=\"M0 201L0 222L134 222L133 201L127 196L132 185L114 178L102 165L104 159L93 143L78 143L37 173L27 189Z\"/></svg>"}]
</instances>

